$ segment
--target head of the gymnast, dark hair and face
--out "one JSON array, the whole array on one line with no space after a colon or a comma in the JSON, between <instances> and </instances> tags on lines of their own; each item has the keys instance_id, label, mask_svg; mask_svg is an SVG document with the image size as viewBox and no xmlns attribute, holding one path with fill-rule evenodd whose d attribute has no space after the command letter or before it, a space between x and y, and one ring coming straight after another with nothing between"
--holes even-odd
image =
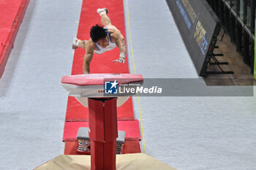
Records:
<instances>
[{"instance_id":1,"label":"head of the gymnast, dark hair and face","mask_svg":"<svg viewBox=\"0 0 256 170\"><path fill-rule=\"evenodd\" d=\"M109 45L108 34L105 28L100 25L91 27L90 36L93 42L96 42L100 47L107 47Z\"/></svg>"}]
</instances>

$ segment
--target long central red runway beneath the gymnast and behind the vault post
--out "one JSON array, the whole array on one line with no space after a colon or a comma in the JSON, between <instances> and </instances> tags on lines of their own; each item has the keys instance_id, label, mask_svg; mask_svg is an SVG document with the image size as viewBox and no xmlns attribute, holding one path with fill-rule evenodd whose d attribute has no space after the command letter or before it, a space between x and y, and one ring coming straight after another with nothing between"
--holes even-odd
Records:
<instances>
[{"instance_id":1,"label":"long central red runway beneath the gymnast and behind the vault post","mask_svg":"<svg viewBox=\"0 0 256 170\"><path fill-rule=\"evenodd\" d=\"M83 0L80 13L80 23L78 26L78 39L89 39L90 28L100 23L100 17L97 13L98 8L107 7L108 17L113 26L116 26L125 38L124 26L124 7L122 0ZM74 60L72 63L72 74L83 74L83 56L85 50L78 48L75 50ZM94 54L91 61L91 73L129 73L128 62L113 63L119 57L119 50L111 50L101 55ZM128 61L128 60L127 60ZM135 120L132 98L117 109L118 130L126 131L125 152L140 152L140 127L138 120ZM65 144L65 154L76 154L76 134L78 128L88 127L88 109L83 107L75 98L69 97L67 103L66 123L64 127L63 140Z\"/></svg>"}]
</instances>

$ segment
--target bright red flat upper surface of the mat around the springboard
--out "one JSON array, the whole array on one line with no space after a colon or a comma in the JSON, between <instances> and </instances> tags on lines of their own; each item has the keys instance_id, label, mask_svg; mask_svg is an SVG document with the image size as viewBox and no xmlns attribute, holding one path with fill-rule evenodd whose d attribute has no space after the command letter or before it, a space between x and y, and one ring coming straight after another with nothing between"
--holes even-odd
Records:
<instances>
[{"instance_id":1,"label":"bright red flat upper surface of the mat around the springboard","mask_svg":"<svg viewBox=\"0 0 256 170\"><path fill-rule=\"evenodd\" d=\"M88 128L89 122L65 122L63 141L76 141L78 129ZM118 121L118 131L125 131L126 138L140 139L140 126L138 120Z\"/></svg>"}]
</instances>

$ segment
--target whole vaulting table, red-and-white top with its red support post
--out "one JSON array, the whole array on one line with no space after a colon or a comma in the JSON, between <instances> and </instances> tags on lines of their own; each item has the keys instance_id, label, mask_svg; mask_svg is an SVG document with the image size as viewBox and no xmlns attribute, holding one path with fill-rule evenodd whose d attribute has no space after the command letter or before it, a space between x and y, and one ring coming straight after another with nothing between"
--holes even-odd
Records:
<instances>
[{"instance_id":1,"label":"whole vaulting table, red-and-white top with its red support post","mask_svg":"<svg viewBox=\"0 0 256 170\"><path fill-rule=\"evenodd\" d=\"M61 85L69 92L69 96L89 108L91 170L116 170L116 107L120 107L131 96L131 93L118 93L116 90L119 85L131 83L141 85L143 76L80 74L62 77Z\"/></svg>"}]
</instances>

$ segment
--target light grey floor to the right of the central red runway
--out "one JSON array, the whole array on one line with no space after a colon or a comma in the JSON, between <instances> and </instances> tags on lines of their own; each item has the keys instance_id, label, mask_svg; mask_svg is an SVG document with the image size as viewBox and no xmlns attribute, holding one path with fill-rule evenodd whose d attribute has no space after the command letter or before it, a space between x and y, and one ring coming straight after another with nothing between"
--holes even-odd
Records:
<instances>
[{"instance_id":1,"label":"light grey floor to the right of the central red runway","mask_svg":"<svg viewBox=\"0 0 256 170\"><path fill-rule=\"evenodd\" d=\"M127 0L124 4L127 20ZM197 78L166 2L128 0L128 7L136 73ZM127 46L133 73L128 31ZM133 101L140 119L138 98ZM140 97L146 153L178 170L255 170L255 102L255 97Z\"/></svg>"}]
</instances>

